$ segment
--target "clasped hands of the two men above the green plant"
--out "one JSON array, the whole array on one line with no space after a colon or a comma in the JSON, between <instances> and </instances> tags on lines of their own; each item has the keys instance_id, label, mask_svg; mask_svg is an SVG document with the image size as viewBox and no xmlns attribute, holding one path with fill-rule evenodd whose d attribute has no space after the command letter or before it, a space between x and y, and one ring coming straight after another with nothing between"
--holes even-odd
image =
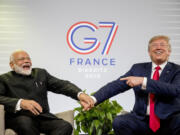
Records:
<instances>
[{"instance_id":1,"label":"clasped hands of the two men above the green plant","mask_svg":"<svg viewBox=\"0 0 180 135\"><path fill-rule=\"evenodd\" d=\"M92 107L94 107L94 104L96 102L96 99L93 99L91 96L85 93L80 93L78 99L84 111L90 110Z\"/></svg>"}]
</instances>

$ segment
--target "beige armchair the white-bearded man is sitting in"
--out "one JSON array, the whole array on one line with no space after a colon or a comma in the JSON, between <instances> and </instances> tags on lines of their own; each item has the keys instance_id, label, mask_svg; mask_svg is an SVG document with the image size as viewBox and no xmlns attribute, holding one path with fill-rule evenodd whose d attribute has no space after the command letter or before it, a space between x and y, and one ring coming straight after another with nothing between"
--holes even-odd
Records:
<instances>
[{"instance_id":1,"label":"beige armchair the white-bearded man is sitting in","mask_svg":"<svg viewBox=\"0 0 180 135\"><path fill-rule=\"evenodd\" d=\"M0 135L17 135L12 129L5 130L4 114L5 114L4 106L0 105ZM56 116L68 121L74 127L74 111L73 110L57 113ZM41 134L41 135L44 135L44 134Z\"/></svg>"}]
</instances>

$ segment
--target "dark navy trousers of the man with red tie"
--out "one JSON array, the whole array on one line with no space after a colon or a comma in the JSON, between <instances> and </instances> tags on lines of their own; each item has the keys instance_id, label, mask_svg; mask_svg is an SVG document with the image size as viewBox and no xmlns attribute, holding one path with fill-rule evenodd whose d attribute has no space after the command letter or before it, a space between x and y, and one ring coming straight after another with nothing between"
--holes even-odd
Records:
<instances>
[{"instance_id":1,"label":"dark navy trousers of the man with red tie","mask_svg":"<svg viewBox=\"0 0 180 135\"><path fill-rule=\"evenodd\" d=\"M160 120L160 129L156 133L149 128L149 116L141 120L132 113L117 116L113 129L116 135L180 135L180 114Z\"/></svg>"}]
</instances>

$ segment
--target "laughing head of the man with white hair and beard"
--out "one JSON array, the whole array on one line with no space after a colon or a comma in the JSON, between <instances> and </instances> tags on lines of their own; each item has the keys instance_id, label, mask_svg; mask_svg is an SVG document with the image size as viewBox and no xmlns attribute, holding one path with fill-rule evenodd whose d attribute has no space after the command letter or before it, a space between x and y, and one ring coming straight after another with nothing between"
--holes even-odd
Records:
<instances>
[{"instance_id":1,"label":"laughing head of the man with white hair and beard","mask_svg":"<svg viewBox=\"0 0 180 135\"><path fill-rule=\"evenodd\" d=\"M10 66L16 73L23 75L31 74L31 59L25 51L14 52L10 57Z\"/></svg>"}]
</instances>

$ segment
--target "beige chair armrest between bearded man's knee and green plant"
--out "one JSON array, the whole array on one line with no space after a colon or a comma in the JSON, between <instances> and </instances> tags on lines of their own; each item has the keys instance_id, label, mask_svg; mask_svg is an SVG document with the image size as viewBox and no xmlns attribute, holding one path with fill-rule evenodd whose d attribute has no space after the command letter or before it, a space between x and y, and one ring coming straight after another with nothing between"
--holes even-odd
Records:
<instances>
[{"instance_id":1,"label":"beige chair armrest between bearded man's knee and green plant","mask_svg":"<svg viewBox=\"0 0 180 135\"><path fill-rule=\"evenodd\" d=\"M58 118L62 118L64 120L68 121L69 123L71 123L72 127L74 128L74 111L73 110L60 112L60 113L57 113L55 115Z\"/></svg>"}]
</instances>

